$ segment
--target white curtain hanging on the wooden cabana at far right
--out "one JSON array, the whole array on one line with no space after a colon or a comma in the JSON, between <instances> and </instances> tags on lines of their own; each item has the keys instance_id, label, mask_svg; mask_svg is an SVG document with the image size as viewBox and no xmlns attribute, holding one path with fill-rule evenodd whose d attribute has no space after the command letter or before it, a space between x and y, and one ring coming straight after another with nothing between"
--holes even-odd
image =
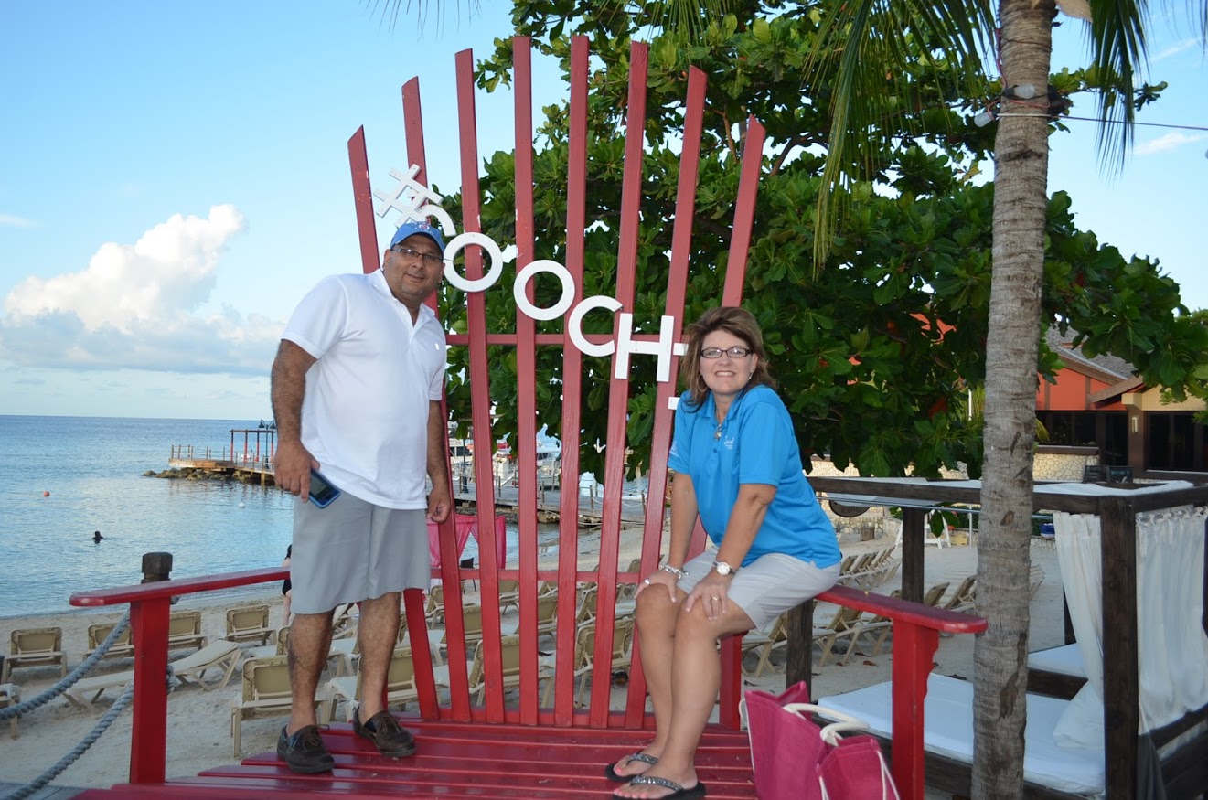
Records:
<instances>
[{"instance_id":1,"label":"white curtain hanging on the wooden cabana at far right","mask_svg":"<svg viewBox=\"0 0 1208 800\"><path fill-rule=\"evenodd\" d=\"M1137 515L1137 626L1140 731L1208 703L1208 636L1202 625L1204 517L1181 506ZM1055 730L1067 747L1103 747L1103 572L1099 518L1058 512L1057 557L1087 683ZM1122 654L1108 654L1120 657Z\"/></svg>"}]
</instances>

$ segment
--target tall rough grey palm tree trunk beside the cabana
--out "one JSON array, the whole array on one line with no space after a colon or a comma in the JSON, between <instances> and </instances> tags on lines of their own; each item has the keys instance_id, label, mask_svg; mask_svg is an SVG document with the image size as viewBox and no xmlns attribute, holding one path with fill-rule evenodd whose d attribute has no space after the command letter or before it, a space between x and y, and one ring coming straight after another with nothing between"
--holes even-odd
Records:
<instances>
[{"instance_id":1,"label":"tall rough grey palm tree trunk beside the cabana","mask_svg":"<svg viewBox=\"0 0 1208 800\"><path fill-rule=\"evenodd\" d=\"M1004 88L1045 105L1053 0L1000 0ZM975 800L1022 798L1036 356L1049 129L1044 110L1004 98L994 164L994 266L986 342L986 457L977 604L993 609L974 650Z\"/></svg>"}]
</instances>

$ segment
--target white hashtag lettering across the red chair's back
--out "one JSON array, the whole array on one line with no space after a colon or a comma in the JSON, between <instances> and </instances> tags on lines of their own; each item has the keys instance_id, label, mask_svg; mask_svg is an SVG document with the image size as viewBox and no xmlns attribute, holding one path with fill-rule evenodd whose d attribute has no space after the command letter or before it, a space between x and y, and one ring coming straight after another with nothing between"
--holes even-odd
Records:
<instances>
[{"instance_id":1,"label":"white hashtag lettering across the red chair's back","mask_svg":"<svg viewBox=\"0 0 1208 800\"><path fill-rule=\"evenodd\" d=\"M416 164L412 164L406 175L396 169L390 170L390 176L399 181L399 186L393 195L373 192L373 197L383 201L383 205L377 208L377 215L385 216L390 209L400 211L395 227L408 220L435 219L440 224L446 239L448 239L448 243L445 245L446 280L465 292L486 291L495 285L504 272L504 262L511 261L511 254L509 254L509 257L505 257L504 250L486 233L475 233L471 231L457 233L453 218L439 205L442 199L441 196L416 181L414 178L418 173L419 167ZM486 273L474 280L458 273L453 266L453 259L467 247L482 248L490 262ZM512 248L509 248L509 250L512 250ZM540 308L528 298L529 282L542 272L557 277L562 283L562 294L558 296L558 301L548 308ZM616 313L621 309L621 301L615 297L594 295L585 297L575 306L574 276L570 274L570 271L565 266L550 259L533 261L516 273L512 298L516 301L517 309L523 312L524 315L538 320L557 319L565 315L569 311L567 332L570 335L570 341L586 355L608 356L616 353L616 366L612 372L612 377L616 378L625 378L628 375L631 355L641 354L657 356L658 366L656 367L655 377L661 383L669 381L672 375L672 356L684 355L685 352L683 342L672 341L675 330L675 318L668 315L660 318L658 338L656 341L634 341L633 314L623 313L616 323L615 341L600 344L588 342L583 335L583 317L597 308ZM675 407L675 398L670 399L669 407Z\"/></svg>"}]
</instances>

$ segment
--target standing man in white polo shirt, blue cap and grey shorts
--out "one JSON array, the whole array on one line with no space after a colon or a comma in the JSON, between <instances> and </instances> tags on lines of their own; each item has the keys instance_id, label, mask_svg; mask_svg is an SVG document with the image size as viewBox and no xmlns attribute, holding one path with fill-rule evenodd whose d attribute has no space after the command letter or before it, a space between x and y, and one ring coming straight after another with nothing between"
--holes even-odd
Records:
<instances>
[{"instance_id":1,"label":"standing man in white polo shirt, blue cap and grey shorts","mask_svg":"<svg viewBox=\"0 0 1208 800\"><path fill-rule=\"evenodd\" d=\"M428 589L428 523L452 508L441 417L445 331L424 300L443 274L445 242L428 222L403 224L382 268L321 280L303 297L273 363L277 485L294 512L294 708L278 755L295 772L335 761L319 734L314 692L331 648L331 614L361 603L361 705L354 731L383 755L416 752L382 707L399 631L400 593ZM307 503L310 471L341 494ZM424 477L432 493L425 498Z\"/></svg>"}]
</instances>

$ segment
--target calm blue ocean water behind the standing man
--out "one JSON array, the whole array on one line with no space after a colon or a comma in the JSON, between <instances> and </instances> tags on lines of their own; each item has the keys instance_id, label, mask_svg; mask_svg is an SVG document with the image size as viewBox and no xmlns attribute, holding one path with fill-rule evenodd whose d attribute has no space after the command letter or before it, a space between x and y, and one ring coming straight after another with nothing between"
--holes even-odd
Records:
<instances>
[{"instance_id":1,"label":"calm blue ocean water behind the standing man","mask_svg":"<svg viewBox=\"0 0 1208 800\"><path fill-rule=\"evenodd\" d=\"M170 552L173 578L279 566L291 495L259 483L143 475L168 469L173 445L217 454L231 429L259 424L0 416L0 618L79 611L68 602L72 592L138 584L145 552ZM93 541L94 531L103 541ZM507 533L512 561L515 526ZM552 531L541 539L556 547ZM471 539L463 557L475 555Z\"/></svg>"}]
</instances>

